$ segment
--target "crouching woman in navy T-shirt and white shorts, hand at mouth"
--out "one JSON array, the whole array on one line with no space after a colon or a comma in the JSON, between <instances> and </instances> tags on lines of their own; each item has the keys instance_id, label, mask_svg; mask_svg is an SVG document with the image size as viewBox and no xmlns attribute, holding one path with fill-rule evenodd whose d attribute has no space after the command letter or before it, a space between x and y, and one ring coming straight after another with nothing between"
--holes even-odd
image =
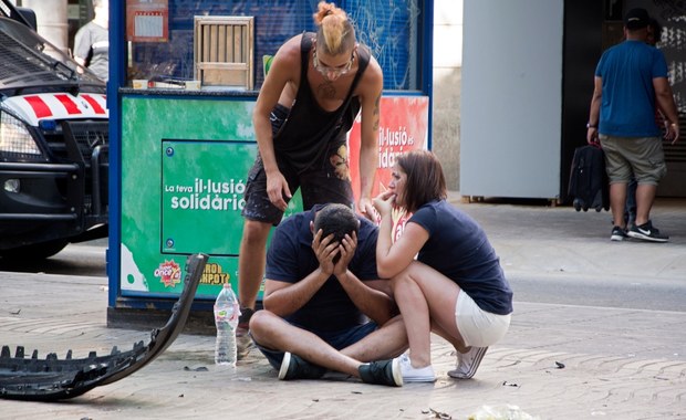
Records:
<instances>
[{"instance_id":1,"label":"crouching woman in navy T-shirt and white shorts, hand at mouth","mask_svg":"<svg viewBox=\"0 0 686 420\"><path fill-rule=\"evenodd\" d=\"M496 251L484 229L446 198L436 156L413 150L397 158L388 190L374 199L381 214L378 275L392 279L409 339L409 353L399 360L405 382L436 380L432 332L457 350L448 375L469 379L510 325L512 291ZM395 242L394 206L412 213Z\"/></svg>"}]
</instances>

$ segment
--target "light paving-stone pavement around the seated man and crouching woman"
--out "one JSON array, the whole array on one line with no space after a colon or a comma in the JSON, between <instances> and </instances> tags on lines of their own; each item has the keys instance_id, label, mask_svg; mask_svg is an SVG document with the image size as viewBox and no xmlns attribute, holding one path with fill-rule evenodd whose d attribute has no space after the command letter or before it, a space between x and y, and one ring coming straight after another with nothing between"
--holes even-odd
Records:
<instances>
[{"instance_id":1,"label":"light paving-stone pavement around the seated man and crouching woman","mask_svg":"<svg viewBox=\"0 0 686 420\"><path fill-rule=\"evenodd\" d=\"M486 227L514 279L510 330L471 380L447 376L455 353L439 337L435 384L387 388L341 376L279 381L257 350L235 370L217 367L214 337L181 334L127 378L63 402L0 400L0 418L467 419L513 405L539 419L686 419L686 311L517 298L517 279L602 279L619 288L686 282L683 201L655 211L668 244L611 243L604 212L455 202ZM149 332L107 328L106 305L105 277L0 272L0 344L85 357L147 343Z\"/></svg>"}]
</instances>

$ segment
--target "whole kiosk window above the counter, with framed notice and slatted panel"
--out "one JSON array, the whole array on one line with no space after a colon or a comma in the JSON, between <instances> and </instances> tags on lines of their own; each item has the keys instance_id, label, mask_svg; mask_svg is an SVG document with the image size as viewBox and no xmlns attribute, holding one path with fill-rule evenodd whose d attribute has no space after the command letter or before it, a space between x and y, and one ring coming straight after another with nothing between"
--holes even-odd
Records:
<instances>
[{"instance_id":1,"label":"whole kiosk window above the counter, with framed notice and slatted panel","mask_svg":"<svg viewBox=\"0 0 686 420\"><path fill-rule=\"evenodd\" d=\"M418 52L427 1L335 2L380 62L385 90L420 88ZM214 88L259 90L262 57L273 55L289 38L314 31L315 10L312 0L126 0L127 84L145 80L156 87L183 87L199 80ZM250 23L209 23L221 17Z\"/></svg>"}]
</instances>

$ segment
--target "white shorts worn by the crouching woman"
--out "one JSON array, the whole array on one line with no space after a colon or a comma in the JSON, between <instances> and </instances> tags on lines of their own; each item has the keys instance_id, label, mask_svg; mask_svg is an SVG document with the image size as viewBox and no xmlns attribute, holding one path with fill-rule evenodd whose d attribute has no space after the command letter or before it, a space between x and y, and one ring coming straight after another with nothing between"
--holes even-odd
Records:
<instances>
[{"instance_id":1,"label":"white shorts worn by the crouching woman","mask_svg":"<svg viewBox=\"0 0 686 420\"><path fill-rule=\"evenodd\" d=\"M465 345L488 347L505 336L512 314L497 315L486 312L462 290L455 304L455 322Z\"/></svg>"}]
</instances>

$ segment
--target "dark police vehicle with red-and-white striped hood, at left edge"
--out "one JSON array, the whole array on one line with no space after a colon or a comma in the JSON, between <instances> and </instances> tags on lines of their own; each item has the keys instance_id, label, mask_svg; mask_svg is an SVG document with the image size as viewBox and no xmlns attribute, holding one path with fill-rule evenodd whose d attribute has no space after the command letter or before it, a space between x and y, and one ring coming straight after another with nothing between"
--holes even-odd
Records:
<instances>
[{"instance_id":1,"label":"dark police vehicle with red-and-white striped hood, at left edge","mask_svg":"<svg viewBox=\"0 0 686 420\"><path fill-rule=\"evenodd\" d=\"M107 235L105 83L0 0L0 261Z\"/></svg>"}]
</instances>

